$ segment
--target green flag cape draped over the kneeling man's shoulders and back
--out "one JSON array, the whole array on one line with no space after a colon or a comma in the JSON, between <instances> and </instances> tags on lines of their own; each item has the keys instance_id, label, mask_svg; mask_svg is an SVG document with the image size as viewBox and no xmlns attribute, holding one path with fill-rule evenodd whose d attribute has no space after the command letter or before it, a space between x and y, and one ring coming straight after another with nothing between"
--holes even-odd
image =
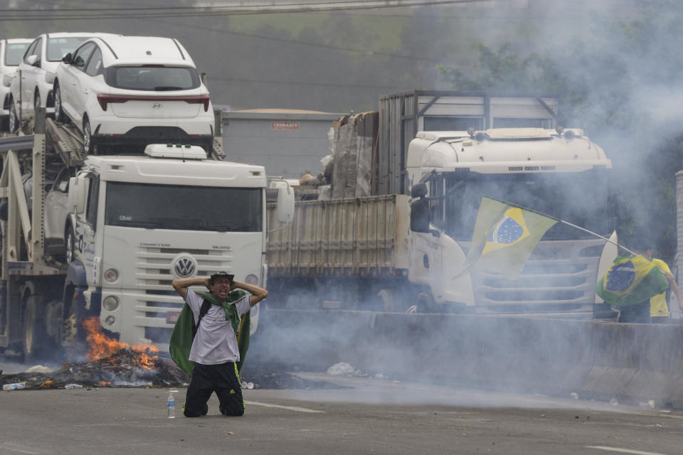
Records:
<instances>
[{"instance_id":1,"label":"green flag cape draped over the kneeling man's shoulders and back","mask_svg":"<svg viewBox=\"0 0 683 455\"><path fill-rule=\"evenodd\" d=\"M222 302L217 301L216 297L206 292L197 292L197 294L210 301L211 304L223 306L223 309L226 310L226 321L231 321L233 331L235 331L235 334L237 335L237 346L240 350L240 360L237 363L237 369L238 371L241 371L244 358L247 355L247 349L249 348L251 311L247 311L240 318L234 304L247 294L245 294L244 291L235 289L230 291L226 300ZM194 333L194 314L192 314L192 310L188 304L184 304L180 316L178 316L178 320L176 321L176 325L173 328L173 332L171 333L169 354L171 354L171 358L176 365L190 376L192 375L192 370L194 370L194 362L189 360L192 342L194 341Z\"/></svg>"}]
</instances>

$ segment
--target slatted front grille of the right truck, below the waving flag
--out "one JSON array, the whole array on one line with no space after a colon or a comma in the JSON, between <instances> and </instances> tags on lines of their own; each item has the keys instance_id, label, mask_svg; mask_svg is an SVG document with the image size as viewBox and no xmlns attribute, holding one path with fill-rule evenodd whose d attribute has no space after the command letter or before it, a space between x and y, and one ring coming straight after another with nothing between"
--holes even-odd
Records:
<instances>
[{"instance_id":1,"label":"slatted front grille of the right truck, below the waving flag","mask_svg":"<svg viewBox=\"0 0 683 455\"><path fill-rule=\"evenodd\" d=\"M502 311L539 306L581 306L595 303L595 282L604 240L541 242L514 280L474 272L477 305Z\"/></svg>"}]
</instances>

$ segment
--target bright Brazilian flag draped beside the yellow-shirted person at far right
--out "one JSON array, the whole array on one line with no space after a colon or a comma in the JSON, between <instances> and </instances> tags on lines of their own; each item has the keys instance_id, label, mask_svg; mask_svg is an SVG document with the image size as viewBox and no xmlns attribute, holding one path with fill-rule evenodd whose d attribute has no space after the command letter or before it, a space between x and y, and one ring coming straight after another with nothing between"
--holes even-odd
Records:
<instances>
[{"instance_id":1,"label":"bright Brazilian flag draped beside the yellow-shirted person at far right","mask_svg":"<svg viewBox=\"0 0 683 455\"><path fill-rule=\"evenodd\" d=\"M617 257L595 293L615 306L635 305L669 289L669 282L654 262L645 256Z\"/></svg>"}]
</instances>

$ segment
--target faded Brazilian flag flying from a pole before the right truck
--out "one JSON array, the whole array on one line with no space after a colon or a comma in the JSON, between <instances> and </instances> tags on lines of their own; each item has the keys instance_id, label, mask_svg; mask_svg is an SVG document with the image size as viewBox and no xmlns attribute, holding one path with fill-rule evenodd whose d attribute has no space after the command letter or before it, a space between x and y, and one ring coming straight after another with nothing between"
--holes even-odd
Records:
<instances>
[{"instance_id":1,"label":"faded Brazilian flag flying from a pole before the right truck","mask_svg":"<svg viewBox=\"0 0 683 455\"><path fill-rule=\"evenodd\" d=\"M541 237L557 222L529 209L483 197L460 274L472 268L516 279Z\"/></svg>"}]
</instances>

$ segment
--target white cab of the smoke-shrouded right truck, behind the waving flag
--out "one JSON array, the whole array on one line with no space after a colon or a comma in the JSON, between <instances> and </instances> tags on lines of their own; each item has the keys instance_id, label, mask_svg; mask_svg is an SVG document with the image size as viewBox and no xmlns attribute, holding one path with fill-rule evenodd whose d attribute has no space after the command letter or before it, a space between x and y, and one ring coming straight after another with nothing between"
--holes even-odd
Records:
<instances>
[{"instance_id":1,"label":"white cab of the smoke-shrouded right truck, behind the waving flag","mask_svg":"<svg viewBox=\"0 0 683 455\"><path fill-rule=\"evenodd\" d=\"M597 277L616 247L567 225L546 232L517 280L485 272L458 274L482 196L547 213L615 241L611 167L603 149L579 129L418 132L408 147L406 168L413 196L420 197L418 186L425 188L424 196L413 200L423 223L412 225L409 273L411 282L425 289L421 304L499 311L591 309L600 302L593 290ZM419 204L421 211L415 210Z\"/></svg>"}]
</instances>

